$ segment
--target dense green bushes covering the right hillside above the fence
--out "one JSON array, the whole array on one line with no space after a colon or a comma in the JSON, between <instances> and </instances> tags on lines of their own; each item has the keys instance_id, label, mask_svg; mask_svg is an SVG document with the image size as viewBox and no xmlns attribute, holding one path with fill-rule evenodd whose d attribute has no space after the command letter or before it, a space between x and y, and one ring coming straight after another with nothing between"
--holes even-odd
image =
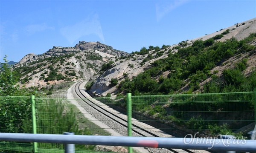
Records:
<instances>
[{"instance_id":1,"label":"dense green bushes covering the right hillside above the fence","mask_svg":"<svg viewBox=\"0 0 256 153\"><path fill-rule=\"evenodd\" d=\"M236 68L224 70L224 82L210 70L234 55L245 52L255 54L255 46L250 45L255 40L256 34L253 33L240 41L236 38L224 42L215 42L214 38L205 41L195 40L191 46L179 48L175 54L171 53L170 49L167 58L154 61L151 63L151 68L132 80L125 78L120 82L119 92L131 92L132 95L173 94L183 92L179 89L189 82L187 93L192 93L200 88L200 82L209 77L213 79L204 86L202 90L204 93L253 91L256 87L255 78L245 77L243 73L247 67L246 59L236 64ZM144 50L145 48L143 52ZM169 74L163 76L163 72ZM254 73L252 72L252 76ZM219 90L210 88L211 84L217 84Z\"/></svg>"}]
</instances>

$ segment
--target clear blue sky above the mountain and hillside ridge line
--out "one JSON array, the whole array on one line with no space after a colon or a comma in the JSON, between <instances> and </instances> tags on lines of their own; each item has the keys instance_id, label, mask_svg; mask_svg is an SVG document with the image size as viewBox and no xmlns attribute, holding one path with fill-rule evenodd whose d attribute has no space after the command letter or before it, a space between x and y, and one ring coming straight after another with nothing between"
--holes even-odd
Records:
<instances>
[{"instance_id":1,"label":"clear blue sky above the mountain and hillside ridge line","mask_svg":"<svg viewBox=\"0 0 256 153\"><path fill-rule=\"evenodd\" d=\"M256 0L0 0L0 62L82 40L131 53L254 17Z\"/></svg>"}]
</instances>

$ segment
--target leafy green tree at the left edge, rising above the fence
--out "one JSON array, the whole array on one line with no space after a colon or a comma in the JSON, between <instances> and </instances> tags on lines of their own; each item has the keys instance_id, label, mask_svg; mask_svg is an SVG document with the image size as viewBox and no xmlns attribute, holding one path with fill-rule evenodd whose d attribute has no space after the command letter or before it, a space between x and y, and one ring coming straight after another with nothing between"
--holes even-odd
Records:
<instances>
[{"instance_id":1,"label":"leafy green tree at the left edge, rising above the fence","mask_svg":"<svg viewBox=\"0 0 256 153\"><path fill-rule=\"evenodd\" d=\"M31 118L30 98L11 96L27 95L30 91L17 85L17 75L11 71L6 57L0 69L0 132L23 133L23 121Z\"/></svg>"}]
</instances>

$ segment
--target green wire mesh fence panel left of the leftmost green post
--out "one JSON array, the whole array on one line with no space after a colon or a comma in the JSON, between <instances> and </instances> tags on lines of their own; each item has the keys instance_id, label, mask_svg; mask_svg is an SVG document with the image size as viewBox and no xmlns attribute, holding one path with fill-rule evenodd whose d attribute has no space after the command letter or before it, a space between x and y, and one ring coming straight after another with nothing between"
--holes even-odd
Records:
<instances>
[{"instance_id":1,"label":"green wire mesh fence panel left of the leftmost green post","mask_svg":"<svg viewBox=\"0 0 256 153\"><path fill-rule=\"evenodd\" d=\"M31 133L31 98L0 97L0 132L1 133ZM0 142L1 150L32 152L31 143Z\"/></svg>"}]
</instances>

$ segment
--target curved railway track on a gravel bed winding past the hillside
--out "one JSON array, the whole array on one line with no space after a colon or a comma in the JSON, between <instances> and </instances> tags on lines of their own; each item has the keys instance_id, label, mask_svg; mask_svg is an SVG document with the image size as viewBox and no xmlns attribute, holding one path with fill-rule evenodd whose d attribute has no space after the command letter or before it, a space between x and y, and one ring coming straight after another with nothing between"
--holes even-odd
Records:
<instances>
[{"instance_id":1,"label":"curved railway track on a gravel bed winding past the hillside","mask_svg":"<svg viewBox=\"0 0 256 153\"><path fill-rule=\"evenodd\" d=\"M127 129L127 120L120 117L119 115L116 115L114 113L112 113L111 111L99 106L98 104L96 104L95 102L91 101L90 99L88 99L87 97L84 96L84 94L81 91L81 84L84 81L80 81L75 85L75 92L76 94L79 96L79 98L81 98L82 101L84 101L88 106L92 107L93 109L95 109L98 113L101 113L102 115L107 116L108 118L111 118L111 120L115 121L116 124L120 124L122 127L124 127L125 129ZM134 133L137 133L140 136L146 136L146 137L160 137L157 134L151 133L145 129L143 129L142 127L132 124L133 128L132 131ZM182 149L168 149L174 153L194 153L190 150L182 150Z\"/></svg>"}]
</instances>

